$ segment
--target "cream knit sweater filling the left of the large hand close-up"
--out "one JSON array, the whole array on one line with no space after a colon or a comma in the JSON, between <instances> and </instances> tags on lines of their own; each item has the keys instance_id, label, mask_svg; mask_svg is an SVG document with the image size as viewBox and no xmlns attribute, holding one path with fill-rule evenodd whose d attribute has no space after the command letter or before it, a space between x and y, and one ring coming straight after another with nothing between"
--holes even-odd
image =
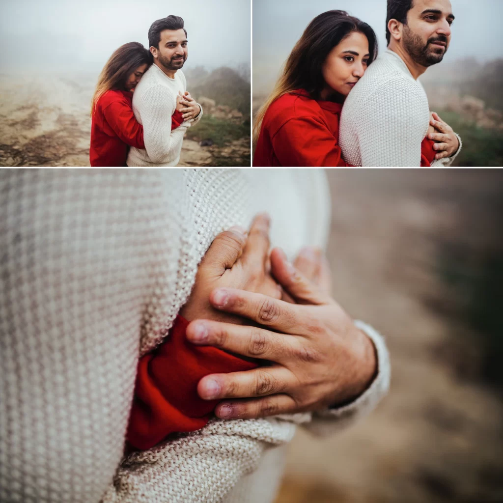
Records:
<instances>
[{"instance_id":1,"label":"cream knit sweater filling the left of the large hand close-up","mask_svg":"<svg viewBox=\"0 0 503 503\"><path fill-rule=\"evenodd\" d=\"M213 420L122 459L138 357L166 336L213 238L268 211L289 257L324 246L324 173L2 170L0 194L0 500L268 503L296 423L333 432L386 393L384 342L359 323L379 373L355 402L312 421Z\"/></svg>"}]
</instances>

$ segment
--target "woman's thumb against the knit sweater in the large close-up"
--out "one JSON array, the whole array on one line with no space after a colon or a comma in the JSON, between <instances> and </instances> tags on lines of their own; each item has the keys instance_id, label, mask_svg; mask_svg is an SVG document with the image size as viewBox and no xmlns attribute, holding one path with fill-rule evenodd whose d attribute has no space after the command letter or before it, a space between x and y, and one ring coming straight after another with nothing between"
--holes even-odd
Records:
<instances>
[{"instance_id":1,"label":"woman's thumb against the knit sweater in the large close-up","mask_svg":"<svg viewBox=\"0 0 503 503\"><path fill-rule=\"evenodd\" d=\"M239 226L220 232L208 248L201 267L209 268L218 276L230 269L241 257L246 244L247 232Z\"/></svg>"}]
</instances>

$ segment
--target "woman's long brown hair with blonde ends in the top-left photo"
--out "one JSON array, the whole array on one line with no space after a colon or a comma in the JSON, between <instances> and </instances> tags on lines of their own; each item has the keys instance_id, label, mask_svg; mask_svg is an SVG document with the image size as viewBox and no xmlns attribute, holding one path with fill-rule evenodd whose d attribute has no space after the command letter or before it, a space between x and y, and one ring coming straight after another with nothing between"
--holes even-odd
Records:
<instances>
[{"instance_id":1,"label":"woman's long brown hair with blonde ends in the top-left photo","mask_svg":"<svg viewBox=\"0 0 503 503\"><path fill-rule=\"evenodd\" d=\"M151 65L153 56L139 42L121 45L110 56L98 77L93 99L91 100L91 117L96 110L98 100L111 89L126 89L126 81L131 73L144 64Z\"/></svg>"}]
</instances>

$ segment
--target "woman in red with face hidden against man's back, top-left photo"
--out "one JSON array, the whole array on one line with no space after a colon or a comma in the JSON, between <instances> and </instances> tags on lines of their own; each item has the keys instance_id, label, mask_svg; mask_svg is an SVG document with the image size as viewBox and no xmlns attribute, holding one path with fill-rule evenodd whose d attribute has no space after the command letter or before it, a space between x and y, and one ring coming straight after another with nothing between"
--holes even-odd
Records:
<instances>
[{"instance_id":1,"label":"woman in red with face hidden against man's back, top-left photo","mask_svg":"<svg viewBox=\"0 0 503 503\"><path fill-rule=\"evenodd\" d=\"M126 166L129 146L145 148L143 127L133 114L133 92L153 62L139 42L119 47L107 61L91 102L92 166ZM172 129L182 124L180 109L172 116Z\"/></svg>"}]
</instances>

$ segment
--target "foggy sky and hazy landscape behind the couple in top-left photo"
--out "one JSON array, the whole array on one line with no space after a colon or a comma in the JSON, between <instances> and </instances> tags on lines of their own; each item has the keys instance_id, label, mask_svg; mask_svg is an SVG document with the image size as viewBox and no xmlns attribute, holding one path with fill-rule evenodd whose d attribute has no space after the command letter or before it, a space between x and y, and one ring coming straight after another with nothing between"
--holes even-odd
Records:
<instances>
[{"instance_id":1,"label":"foggy sky and hazy landscape behind the couple in top-left photo","mask_svg":"<svg viewBox=\"0 0 503 503\"><path fill-rule=\"evenodd\" d=\"M151 23L170 14L184 18L183 71L204 109L179 165L249 166L250 0L1 2L0 165L89 165L98 75L122 44L148 47Z\"/></svg>"}]
</instances>

